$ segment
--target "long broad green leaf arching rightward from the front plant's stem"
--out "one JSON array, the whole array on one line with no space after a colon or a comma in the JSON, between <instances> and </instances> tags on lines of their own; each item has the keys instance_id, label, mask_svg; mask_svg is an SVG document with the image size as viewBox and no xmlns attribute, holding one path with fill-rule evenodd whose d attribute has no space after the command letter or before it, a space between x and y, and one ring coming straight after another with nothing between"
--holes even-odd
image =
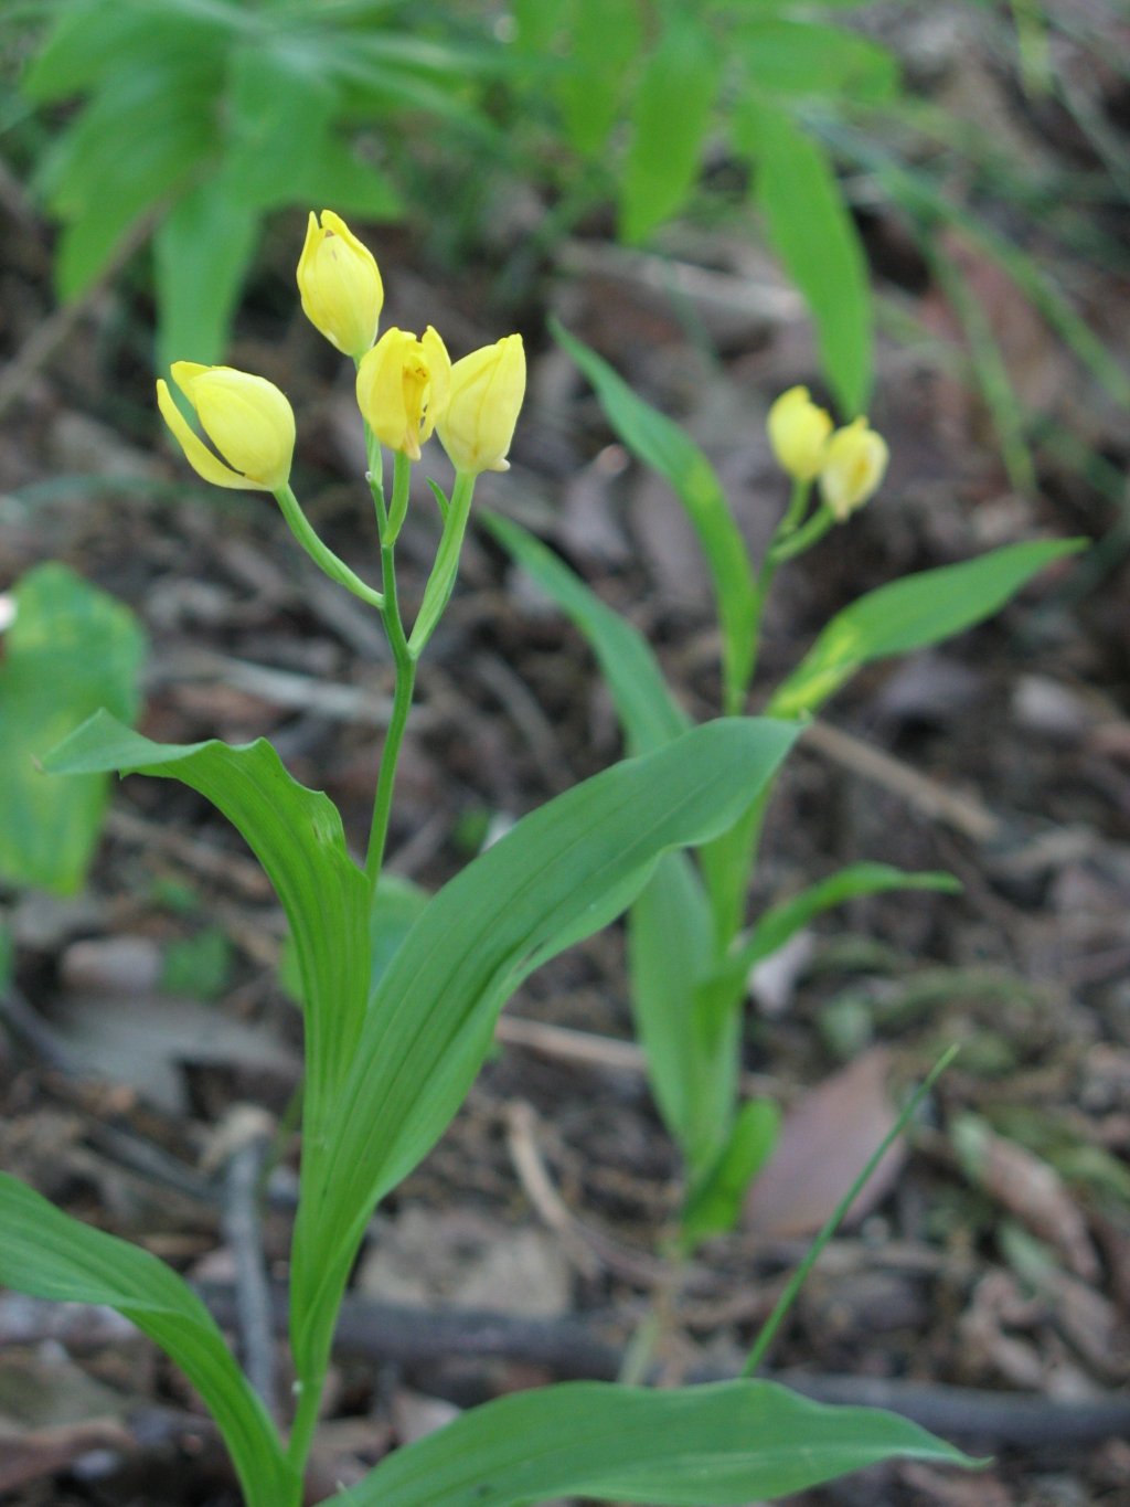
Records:
<instances>
[{"instance_id":1,"label":"long broad green leaf arching rightward from the front plant's stem","mask_svg":"<svg viewBox=\"0 0 1130 1507\"><path fill-rule=\"evenodd\" d=\"M696 728L524 817L435 895L381 980L339 1096L322 1186L300 1209L292 1284L303 1371L328 1353L374 1206L450 1121L508 996L622 912L664 851L728 826L794 732L753 719Z\"/></svg>"}]
</instances>

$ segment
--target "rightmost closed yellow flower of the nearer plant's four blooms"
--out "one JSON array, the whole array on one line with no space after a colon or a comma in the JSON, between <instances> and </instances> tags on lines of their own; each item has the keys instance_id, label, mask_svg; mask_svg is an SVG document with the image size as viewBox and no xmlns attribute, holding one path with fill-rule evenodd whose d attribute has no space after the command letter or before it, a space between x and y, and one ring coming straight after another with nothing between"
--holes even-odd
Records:
<instances>
[{"instance_id":1,"label":"rightmost closed yellow flower of the nearer plant's four blooms","mask_svg":"<svg viewBox=\"0 0 1130 1507\"><path fill-rule=\"evenodd\" d=\"M457 472L478 476L484 470L509 470L506 451L524 396L526 351L520 335L455 362L438 431Z\"/></svg>"}]
</instances>

